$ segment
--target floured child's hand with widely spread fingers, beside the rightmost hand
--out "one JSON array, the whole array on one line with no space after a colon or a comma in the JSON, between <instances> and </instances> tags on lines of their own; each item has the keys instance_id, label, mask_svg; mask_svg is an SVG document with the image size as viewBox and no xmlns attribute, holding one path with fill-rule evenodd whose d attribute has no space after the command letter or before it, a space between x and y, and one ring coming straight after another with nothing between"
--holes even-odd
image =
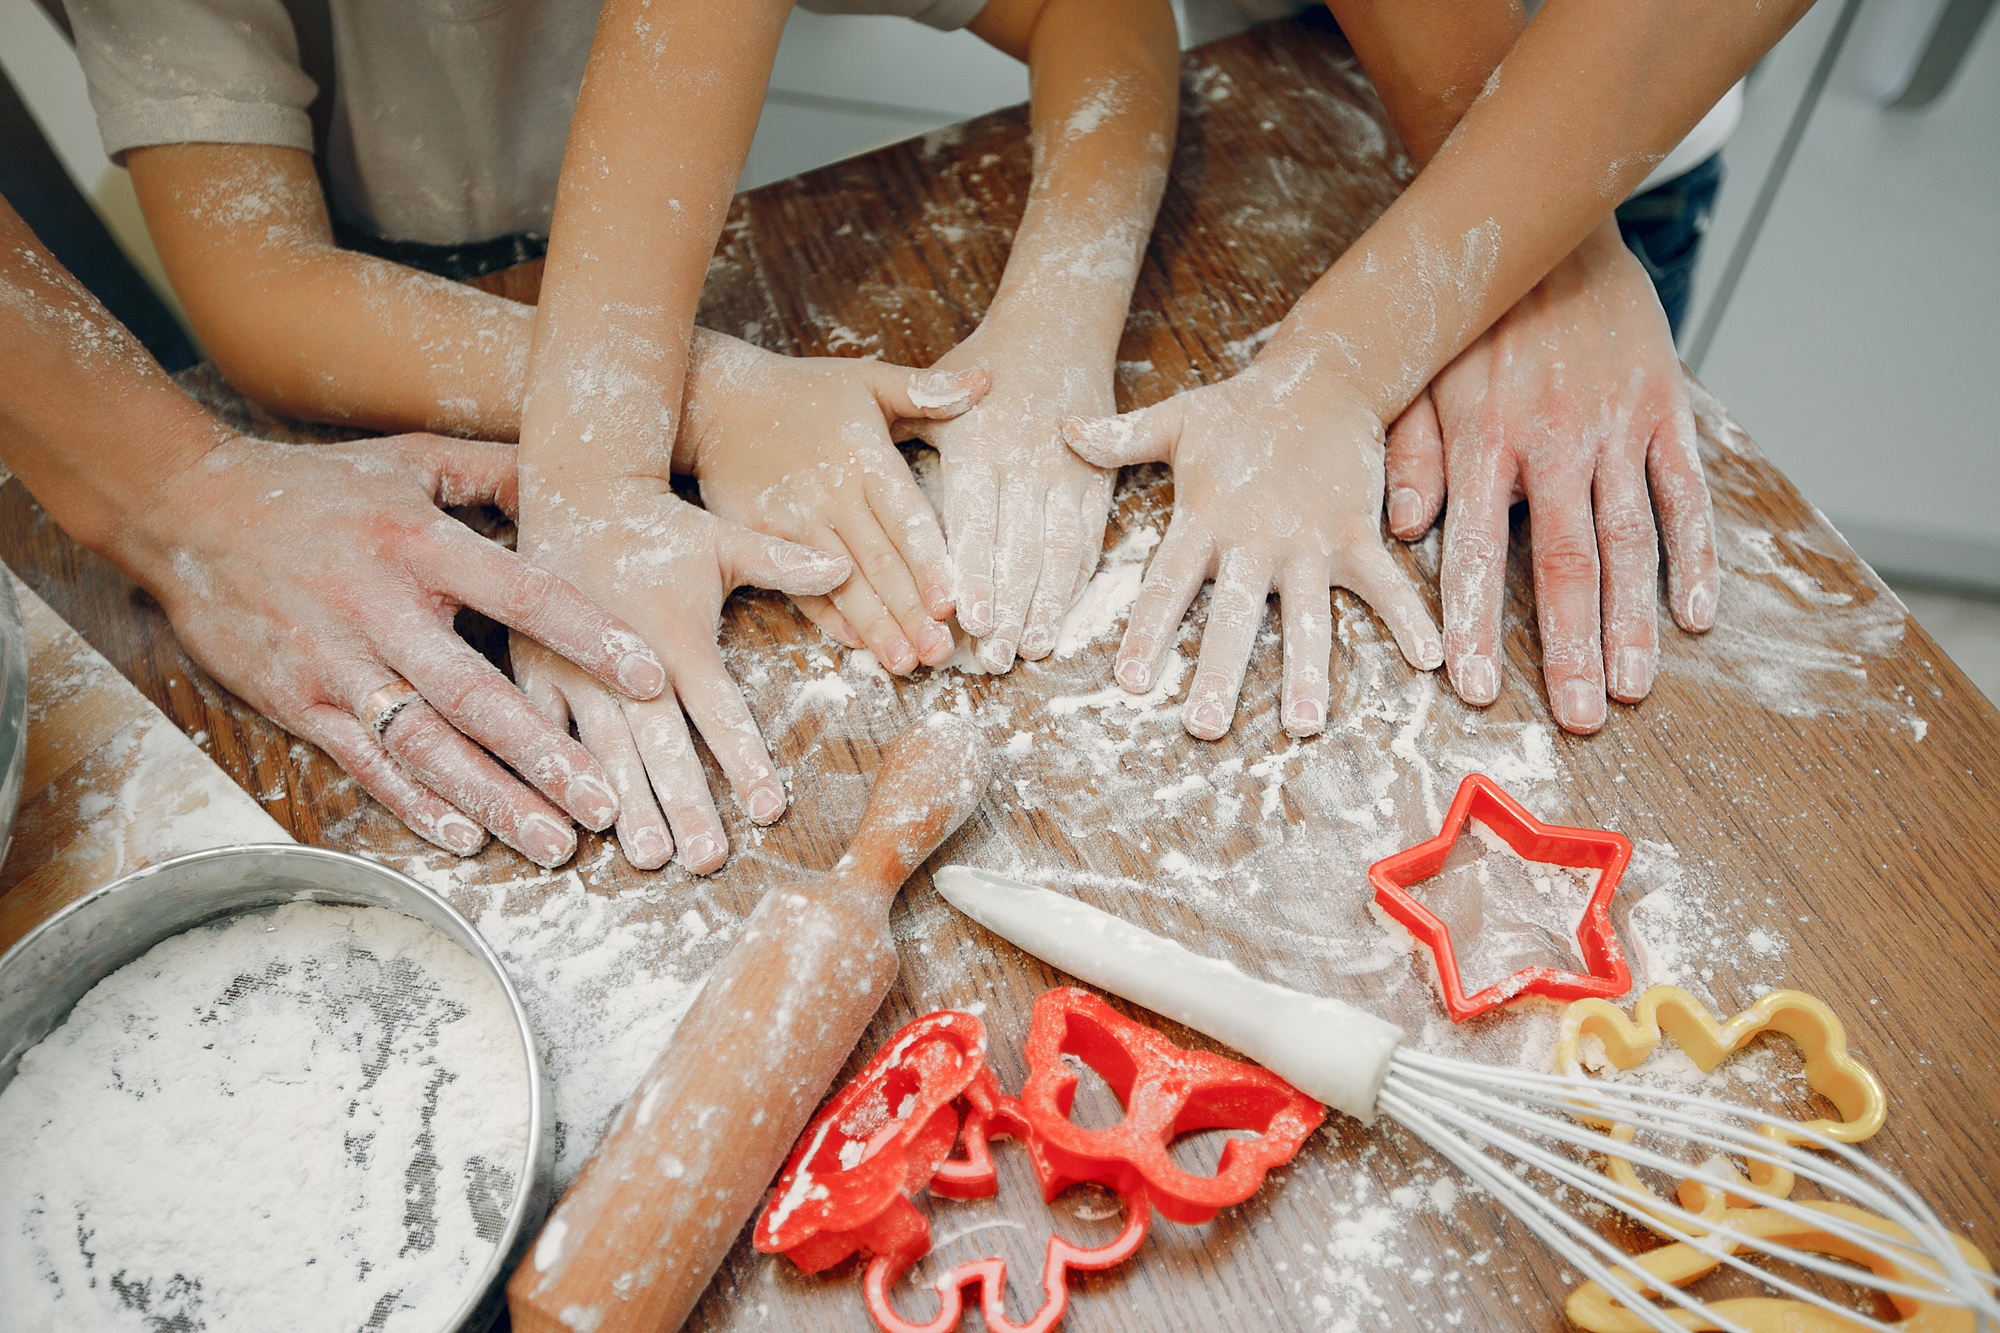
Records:
<instances>
[{"instance_id":1,"label":"floured child's hand with widely spread fingers, beside the rightmost hand","mask_svg":"<svg viewBox=\"0 0 2000 1333\"><path fill-rule=\"evenodd\" d=\"M1326 725L1334 646L1330 586L1376 608L1404 658L1432 671L1444 644L1430 610L1382 548L1382 422L1338 380L1310 384L1266 352L1250 370L1140 412L1062 422L1098 466L1168 462L1174 518L1118 646L1118 685L1152 687L1202 582L1216 580L1182 723L1204 741L1230 729L1244 669L1276 588L1284 610L1284 729Z\"/></svg>"}]
</instances>

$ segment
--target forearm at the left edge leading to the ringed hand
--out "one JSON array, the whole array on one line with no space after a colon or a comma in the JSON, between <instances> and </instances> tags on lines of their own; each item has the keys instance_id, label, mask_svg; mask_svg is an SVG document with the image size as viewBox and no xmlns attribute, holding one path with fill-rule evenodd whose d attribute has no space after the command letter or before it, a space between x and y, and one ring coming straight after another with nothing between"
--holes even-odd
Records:
<instances>
[{"instance_id":1,"label":"forearm at the left edge leading to the ringed hand","mask_svg":"<svg viewBox=\"0 0 2000 1333\"><path fill-rule=\"evenodd\" d=\"M224 432L6 204L0 376L0 460L70 536L154 586L162 552L140 518Z\"/></svg>"}]
</instances>

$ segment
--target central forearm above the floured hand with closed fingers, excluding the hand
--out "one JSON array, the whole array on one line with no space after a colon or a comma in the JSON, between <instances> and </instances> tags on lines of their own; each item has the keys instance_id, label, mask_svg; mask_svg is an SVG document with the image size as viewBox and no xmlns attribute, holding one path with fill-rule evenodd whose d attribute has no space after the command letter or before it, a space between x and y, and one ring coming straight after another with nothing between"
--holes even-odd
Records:
<instances>
[{"instance_id":1,"label":"central forearm above the floured hand with closed fingers, excluding the hand","mask_svg":"<svg viewBox=\"0 0 2000 1333\"><path fill-rule=\"evenodd\" d=\"M988 4L1032 70L1034 186L986 326L1112 372L1174 152L1180 48L1164 0Z\"/></svg>"}]
</instances>

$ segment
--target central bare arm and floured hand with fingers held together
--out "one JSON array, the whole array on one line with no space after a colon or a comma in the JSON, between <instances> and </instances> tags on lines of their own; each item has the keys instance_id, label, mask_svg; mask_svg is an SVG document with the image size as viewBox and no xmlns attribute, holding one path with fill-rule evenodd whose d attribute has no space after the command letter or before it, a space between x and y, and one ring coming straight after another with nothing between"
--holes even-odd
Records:
<instances>
[{"instance_id":1,"label":"central bare arm and floured hand with fingers held together","mask_svg":"<svg viewBox=\"0 0 2000 1333\"><path fill-rule=\"evenodd\" d=\"M938 364L992 370L964 416L924 428L944 462L954 602L1006 671L1056 646L1096 568L1112 474L1060 440L1114 408L1112 370L1166 186L1180 48L1164 0L990 0L972 24L1028 62L1034 186L978 330Z\"/></svg>"}]
</instances>

